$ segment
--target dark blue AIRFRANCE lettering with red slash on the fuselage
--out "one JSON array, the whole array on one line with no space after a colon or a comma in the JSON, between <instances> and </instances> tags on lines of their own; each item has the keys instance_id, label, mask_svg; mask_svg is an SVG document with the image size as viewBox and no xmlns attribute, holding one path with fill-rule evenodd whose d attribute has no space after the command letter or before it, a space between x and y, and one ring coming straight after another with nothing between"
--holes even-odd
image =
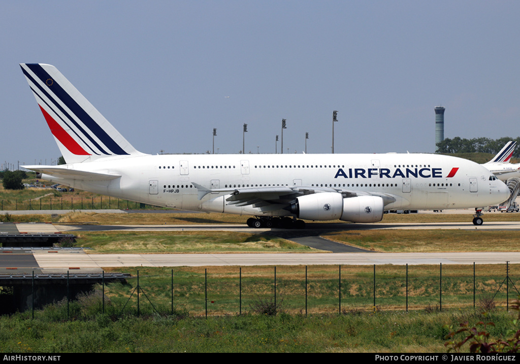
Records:
<instances>
[{"instance_id":1,"label":"dark blue AIRFRANCE lettering with red slash on the fuselage","mask_svg":"<svg viewBox=\"0 0 520 364\"><path fill-rule=\"evenodd\" d=\"M446 177L453 177L458 169L452 168ZM334 178L373 178L378 176L379 178L443 178L443 168L396 168L393 173L389 168L348 168L347 170L339 168Z\"/></svg>"}]
</instances>

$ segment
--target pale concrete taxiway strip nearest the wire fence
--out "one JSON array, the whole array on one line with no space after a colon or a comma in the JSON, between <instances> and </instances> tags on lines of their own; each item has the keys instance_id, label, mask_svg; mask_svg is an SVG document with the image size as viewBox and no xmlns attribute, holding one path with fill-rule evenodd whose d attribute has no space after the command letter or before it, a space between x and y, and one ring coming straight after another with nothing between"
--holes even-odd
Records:
<instances>
[{"instance_id":1,"label":"pale concrete taxiway strip nearest the wire fence","mask_svg":"<svg viewBox=\"0 0 520 364\"><path fill-rule=\"evenodd\" d=\"M255 265L456 265L520 263L520 252L479 253L260 253L260 254L85 254L34 252L39 268L201 267Z\"/></svg>"}]
</instances>

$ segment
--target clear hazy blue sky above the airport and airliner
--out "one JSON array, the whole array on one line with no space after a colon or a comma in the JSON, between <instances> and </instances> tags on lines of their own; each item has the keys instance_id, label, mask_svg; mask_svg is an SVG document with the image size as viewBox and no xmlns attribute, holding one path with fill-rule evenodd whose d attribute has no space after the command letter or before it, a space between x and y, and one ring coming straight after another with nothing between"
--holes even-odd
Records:
<instances>
[{"instance_id":1,"label":"clear hazy blue sky above the airport and airliner","mask_svg":"<svg viewBox=\"0 0 520 364\"><path fill-rule=\"evenodd\" d=\"M56 66L146 153L434 152L517 137L520 2L0 2L0 163L60 152L18 63ZM278 151L280 151L278 142Z\"/></svg>"}]
</instances>

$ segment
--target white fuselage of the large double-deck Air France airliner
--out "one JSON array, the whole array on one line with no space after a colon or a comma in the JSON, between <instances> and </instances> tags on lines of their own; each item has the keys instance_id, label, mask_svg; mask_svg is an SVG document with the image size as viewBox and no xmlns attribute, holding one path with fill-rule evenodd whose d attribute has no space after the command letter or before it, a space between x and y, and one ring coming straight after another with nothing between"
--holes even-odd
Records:
<instances>
[{"instance_id":1,"label":"white fuselage of the large double-deck Air France airliner","mask_svg":"<svg viewBox=\"0 0 520 364\"><path fill-rule=\"evenodd\" d=\"M508 188L483 166L434 154L166 154L62 166L115 174L112 180L43 179L157 206L190 211L290 216L285 209L227 205L233 189L305 186L389 196L384 210L461 209L500 203ZM192 183L210 190L201 200Z\"/></svg>"}]
</instances>

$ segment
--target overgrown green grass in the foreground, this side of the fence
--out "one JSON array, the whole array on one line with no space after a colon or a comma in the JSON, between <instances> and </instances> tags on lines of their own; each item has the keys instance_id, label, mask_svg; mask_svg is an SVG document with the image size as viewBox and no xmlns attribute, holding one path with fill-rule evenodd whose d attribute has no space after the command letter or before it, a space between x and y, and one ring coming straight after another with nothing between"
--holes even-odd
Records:
<instances>
[{"instance_id":1,"label":"overgrown green grass in the foreground, this side of the fence","mask_svg":"<svg viewBox=\"0 0 520 364\"><path fill-rule=\"evenodd\" d=\"M70 305L73 320L57 319L62 302L28 314L0 317L4 353L445 353L446 326L479 320L495 322L491 340L517 329L514 315L473 310L379 311L277 316L159 316L114 318L84 315ZM461 337L459 338L461 340ZM462 348L468 350L468 345Z\"/></svg>"}]
</instances>

